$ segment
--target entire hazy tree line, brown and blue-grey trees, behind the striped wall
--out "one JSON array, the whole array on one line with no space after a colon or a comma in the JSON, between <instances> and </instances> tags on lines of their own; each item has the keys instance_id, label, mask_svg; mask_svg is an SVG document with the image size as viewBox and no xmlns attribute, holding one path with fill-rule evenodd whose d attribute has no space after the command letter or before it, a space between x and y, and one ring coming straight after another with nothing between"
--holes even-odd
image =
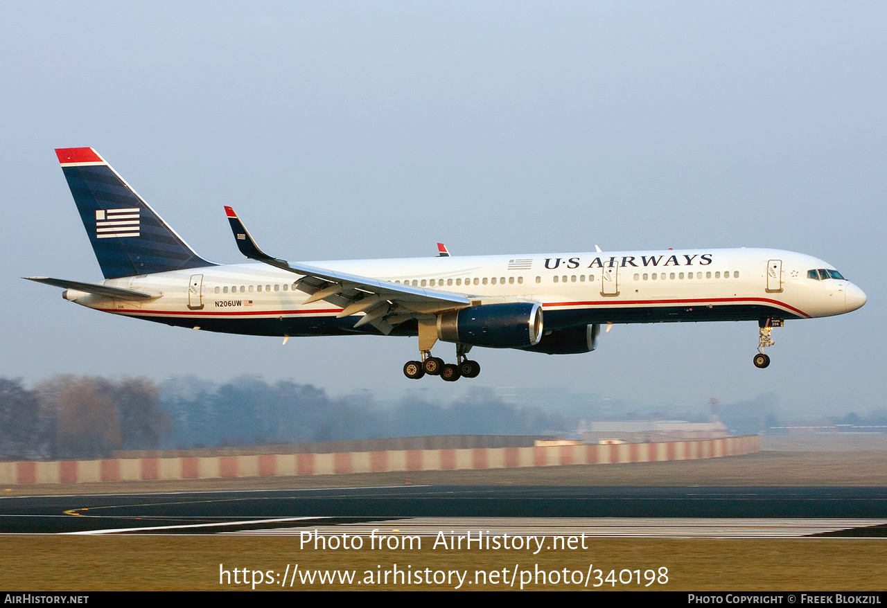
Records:
<instances>
[{"instance_id":1,"label":"entire hazy tree line, brown and blue-grey trees, behind the striped wall","mask_svg":"<svg viewBox=\"0 0 887 608\"><path fill-rule=\"evenodd\" d=\"M57 376L24 386L0 378L0 460L109 457L120 449L204 448L437 434L538 434L561 417L478 389L441 404L331 397L293 381L113 380Z\"/></svg>"}]
</instances>

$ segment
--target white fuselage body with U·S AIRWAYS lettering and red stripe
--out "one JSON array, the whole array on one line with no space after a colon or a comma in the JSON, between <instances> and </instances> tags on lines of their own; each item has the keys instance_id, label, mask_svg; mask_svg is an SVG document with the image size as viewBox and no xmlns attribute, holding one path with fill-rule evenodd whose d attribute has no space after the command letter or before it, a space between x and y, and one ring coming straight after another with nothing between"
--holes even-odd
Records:
<instances>
[{"instance_id":1,"label":"white fuselage body with U\u00b7S AIRWAYS lettering and red stripe","mask_svg":"<svg viewBox=\"0 0 887 608\"><path fill-rule=\"evenodd\" d=\"M866 301L859 287L814 279L825 261L774 249L546 253L309 262L392 283L456 292L475 303L530 300L542 304L546 328L577 323L809 318L840 315ZM114 300L71 293L89 308L211 331L261 335L375 333L349 330L358 316L332 321L341 307L294 289L300 276L262 263L209 266L106 280L160 294ZM74 296L74 297L72 297ZM476 300L475 300L476 299ZM255 323L256 321L274 323Z\"/></svg>"}]
</instances>

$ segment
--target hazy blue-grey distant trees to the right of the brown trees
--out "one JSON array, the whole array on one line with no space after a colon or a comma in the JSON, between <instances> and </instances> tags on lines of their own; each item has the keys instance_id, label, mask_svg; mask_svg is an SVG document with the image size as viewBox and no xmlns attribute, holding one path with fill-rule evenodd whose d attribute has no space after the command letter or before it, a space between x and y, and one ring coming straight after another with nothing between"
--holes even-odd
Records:
<instances>
[{"instance_id":1,"label":"hazy blue-grey distant trees to the right of the brown trees","mask_svg":"<svg viewBox=\"0 0 887 608\"><path fill-rule=\"evenodd\" d=\"M380 403L368 392L332 397L316 386L238 378L221 386L175 378L161 390L173 421L164 448L302 443L450 434L538 434L561 417L517 408L489 390L447 404L417 396Z\"/></svg>"}]
</instances>

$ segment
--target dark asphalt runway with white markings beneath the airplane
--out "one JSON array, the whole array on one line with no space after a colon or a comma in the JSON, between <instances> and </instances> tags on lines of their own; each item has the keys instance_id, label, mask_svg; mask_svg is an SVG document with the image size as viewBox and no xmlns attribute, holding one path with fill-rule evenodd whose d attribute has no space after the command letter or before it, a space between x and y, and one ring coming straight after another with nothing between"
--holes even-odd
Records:
<instances>
[{"instance_id":1,"label":"dark asphalt runway with white markings beneath the airplane","mask_svg":"<svg viewBox=\"0 0 887 608\"><path fill-rule=\"evenodd\" d=\"M407 486L4 496L0 534L887 535L883 487Z\"/></svg>"}]
</instances>

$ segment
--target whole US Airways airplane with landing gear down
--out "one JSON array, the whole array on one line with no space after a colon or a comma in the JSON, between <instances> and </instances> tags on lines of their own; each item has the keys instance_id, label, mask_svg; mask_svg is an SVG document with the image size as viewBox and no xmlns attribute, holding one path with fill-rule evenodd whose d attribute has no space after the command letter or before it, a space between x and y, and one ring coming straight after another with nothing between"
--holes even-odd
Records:
<instances>
[{"instance_id":1,"label":"whole US Airways airplane with landing gear down","mask_svg":"<svg viewBox=\"0 0 887 608\"><path fill-rule=\"evenodd\" d=\"M695 249L288 262L224 207L240 253L201 257L92 148L56 150L105 280L23 277L87 308L194 330L418 337L404 375L475 378L473 347L588 353L613 323L756 321L758 368L789 319L842 315L866 294L828 262L777 249ZM456 362L432 356L451 342Z\"/></svg>"}]
</instances>

